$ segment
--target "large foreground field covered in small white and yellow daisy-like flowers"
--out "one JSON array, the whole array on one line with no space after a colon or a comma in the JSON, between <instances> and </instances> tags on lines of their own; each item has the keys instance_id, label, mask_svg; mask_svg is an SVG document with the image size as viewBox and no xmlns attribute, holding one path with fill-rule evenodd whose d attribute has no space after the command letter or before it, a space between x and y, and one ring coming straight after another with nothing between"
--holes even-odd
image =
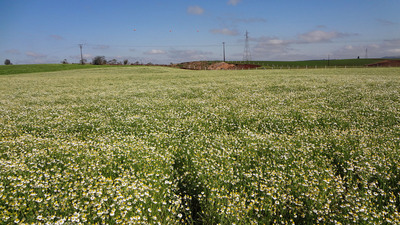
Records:
<instances>
[{"instance_id":1,"label":"large foreground field covered in small white and yellow daisy-like flowers","mask_svg":"<svg viewBox=\"0 0 400 225\"><path fill-rule=\"evenodd\" d=\"M400 69L0 76L0 224L399 224Z\"/></svg>"}]
</instances>

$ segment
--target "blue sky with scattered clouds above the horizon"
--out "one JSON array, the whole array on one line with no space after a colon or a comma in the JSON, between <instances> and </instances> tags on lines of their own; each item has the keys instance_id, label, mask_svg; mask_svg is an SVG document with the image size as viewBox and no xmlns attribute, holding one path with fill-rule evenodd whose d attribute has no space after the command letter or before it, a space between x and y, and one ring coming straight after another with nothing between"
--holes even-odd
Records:
<instances>
[{"instance_id":1,"label":"blue sky with scattered clouds above the horizon","mask_svg":"<svg viewBox=\"0 0 400 225\"><path fill-rule=\"evenodd\" d=\"M400 55L399 0L0 0L0 60L141 63ZM2 61L2 62L3 62Z\"/></svg>"}]
</instances>

